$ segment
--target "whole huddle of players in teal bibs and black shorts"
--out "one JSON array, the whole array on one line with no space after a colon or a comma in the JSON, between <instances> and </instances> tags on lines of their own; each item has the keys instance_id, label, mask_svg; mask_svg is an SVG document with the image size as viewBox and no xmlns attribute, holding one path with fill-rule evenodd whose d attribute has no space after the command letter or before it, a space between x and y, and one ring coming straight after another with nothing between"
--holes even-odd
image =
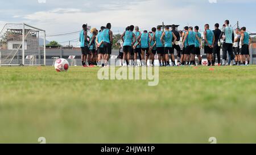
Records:
<instances>
[{"instance_id":1,"label":"whole huddle of players in teal bibs and black shorts","mask_svg":"<svg viewBox=\"0 0 256 155\"><path fill-rule=\"evenodd\" d=\"M205 24L204 35L204 53L207 55L208 66L215 65L217 55L217 65L220 63L221 40L222 45L222 65L226 65L229 54L230 65L250 64L249 45L251 37L246 28L236 29L234 34L233 28L229 26L229 20L225 20L222 30L219 30L219 24L214 25L215 30L209 29L209 24ZM112 54L113 32L111 24L101 27L98 32L92 28L90 36L87 35L87 26L82 26L80 33L80 43L82 50L82 65L94 66L108 65L110 55ZM134 31L135 30L135 31ZM193 31L194 30L194 31ZM154 66L156 53L160 66L176 66L174 49L177 51L177 63L179 65L196 65L197 56L199 63L202 65L200 49L202 48L202 36L199 32L199 26L184 27L184 31L176 31L176 27L153 27L151 32L144 30L139 31L139 27L128 26L122 33L121 39L115 45L119 46L119 58L121 64L127 66L138 66L137 58L139 57L141 66L146 66L149 61L150 66ZM181 50L182 49L182 50ZM97 55L97 57L96 57ZM85 61L88 60L88 65ZM171 63L170 63L171 60ZM235 63L236 61L236 63Z\"/></svg>"}]
</instances>

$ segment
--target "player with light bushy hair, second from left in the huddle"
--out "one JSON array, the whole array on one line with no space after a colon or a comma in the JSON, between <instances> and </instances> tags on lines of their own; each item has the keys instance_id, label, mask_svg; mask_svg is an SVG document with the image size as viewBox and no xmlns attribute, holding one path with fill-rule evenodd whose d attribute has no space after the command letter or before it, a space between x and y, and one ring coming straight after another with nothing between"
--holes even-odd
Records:
<instances>
[{"instance_id":1,"label":"player with light bushy hair, second from left in the huddle","mask_svg":"<svg viewBox=\"0 0 256 155\"><path fill-rule=\"evenodd\" d=\"M89 66L96 65L96 36L98 34L98 30L96 28L92 28L90 31L90 44L89 44L89 49L90 49L90 60Z\"/></svg>"}]
</instances>

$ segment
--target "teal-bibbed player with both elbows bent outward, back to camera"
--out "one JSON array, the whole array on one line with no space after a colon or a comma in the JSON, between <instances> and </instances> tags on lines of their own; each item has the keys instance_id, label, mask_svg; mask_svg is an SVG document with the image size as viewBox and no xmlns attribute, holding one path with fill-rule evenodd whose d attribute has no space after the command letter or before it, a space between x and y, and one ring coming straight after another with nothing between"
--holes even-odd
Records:
<instances>
[{"instance_id":1,"label":"teal-bibbed player with both elbows bent outward, back to camera","mask_svg":"<svg viewBox=\"0 0 256 155\"><path fill-rule=\"evenodd\" d=\"M167 62L167 66L170 66L170 59L169 59L169 53L171 55L171 61L172 66L175 66L175 57L174 57L174 48L172 48L172 38L174 38L174 43L177 40L177 37L175 36L174 32L169 31L170 27L165 26L165 31L163 32L161 36L161 41L164 44L164 55Z\"/></svg>"}]
</instances>

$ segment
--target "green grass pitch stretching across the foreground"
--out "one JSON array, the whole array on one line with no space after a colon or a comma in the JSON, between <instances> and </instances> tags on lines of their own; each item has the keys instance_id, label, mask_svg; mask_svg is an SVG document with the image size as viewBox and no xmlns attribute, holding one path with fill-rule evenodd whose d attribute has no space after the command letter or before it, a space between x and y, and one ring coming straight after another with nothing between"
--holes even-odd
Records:
<instances>
[{"instance_id":1,"label":"green grass pitch stretching across the foreground","mask_svg":"<svg viewBox=\"0 0 256 155\"><path fill-rule=\"evenodd\" d=\"M256 143L256 66L160 68L100 81L99 68L0 67L0 143Z\"/></svg>"}]
</instances>

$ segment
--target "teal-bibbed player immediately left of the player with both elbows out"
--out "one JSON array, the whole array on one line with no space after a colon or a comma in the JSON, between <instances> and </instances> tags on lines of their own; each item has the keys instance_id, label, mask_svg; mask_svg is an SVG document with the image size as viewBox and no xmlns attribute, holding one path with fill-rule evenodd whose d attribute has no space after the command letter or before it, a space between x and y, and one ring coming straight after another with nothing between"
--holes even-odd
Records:
<instances>
[{"instance_id":1,"label":"teal-bibbed player immediately left of the player with both elbows out","mask_svg":"<svg viewBox=\"0 0 256 155\"><path fill-rule=\"evenodd\" d=\"M154 33L153 41L156 42L156 51L158 52L158 60L159 60L159 66L165 66L166 61L164 58L164 45L161 41L162 31L161 26L156 27L156 32ZM162 64L161 64L162 60Z\"/></svg>"}]
</instances>

